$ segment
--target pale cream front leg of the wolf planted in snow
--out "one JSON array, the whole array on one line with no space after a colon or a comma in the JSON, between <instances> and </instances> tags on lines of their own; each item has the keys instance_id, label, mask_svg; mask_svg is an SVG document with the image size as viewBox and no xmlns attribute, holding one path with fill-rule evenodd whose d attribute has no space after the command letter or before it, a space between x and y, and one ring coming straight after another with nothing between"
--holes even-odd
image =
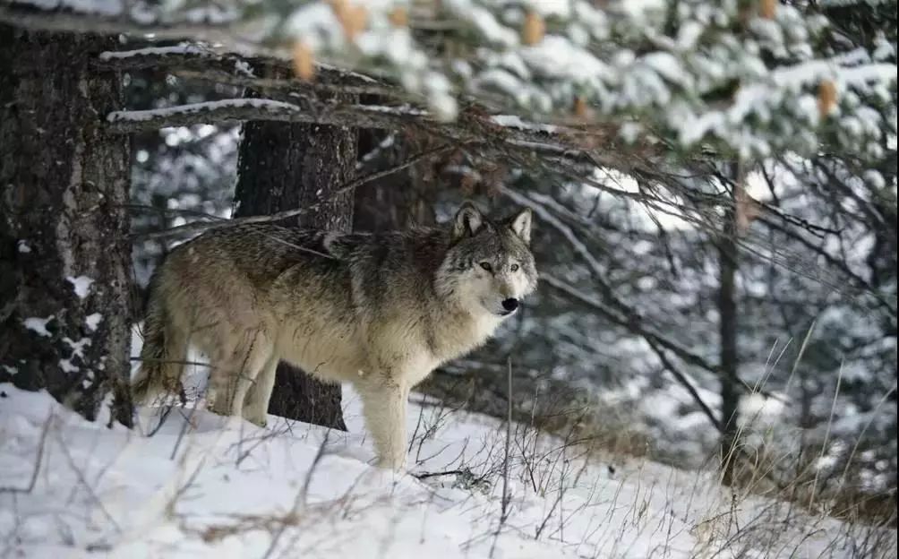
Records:
<instances>
[{"instance_id":1,"label":"pale cream front leg of the wolf planted in snow","mask_svg":"<svg viewBox=\"0 0 899 559\"><path fill-rule=\"evenodd\" d=\"M378 466L405 469L405 410L409 388L387 379L371 378L357 383L362 413L378 454Z\"/></svg>"}]
</instances>

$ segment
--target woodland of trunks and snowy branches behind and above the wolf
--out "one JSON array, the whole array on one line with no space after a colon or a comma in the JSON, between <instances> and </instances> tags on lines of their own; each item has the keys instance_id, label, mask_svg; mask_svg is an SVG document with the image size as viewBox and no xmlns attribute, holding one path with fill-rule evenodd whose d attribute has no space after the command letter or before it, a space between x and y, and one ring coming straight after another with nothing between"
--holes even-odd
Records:
<instances>
[{"instance_id":1,"label":"woodland of trunks and snowy branches behind and above the wolf","mask_svg":"<svg viewBox=\"0 0 899 559\"><path fill-rule=\"evenodd\" d=\"M419 390L895 526L895 2L49 4L0 6L0 381L130 424L191 235L526 206L539 293Z\"/></svg>"}]
</instances>

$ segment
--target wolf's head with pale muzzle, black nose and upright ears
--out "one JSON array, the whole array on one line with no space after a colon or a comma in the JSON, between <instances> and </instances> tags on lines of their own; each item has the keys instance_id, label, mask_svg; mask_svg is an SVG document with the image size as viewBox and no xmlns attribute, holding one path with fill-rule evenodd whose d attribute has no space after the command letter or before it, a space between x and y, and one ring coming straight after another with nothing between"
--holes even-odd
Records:
<instances>
[{"instance_id":1,"label":"wolf's head with pale muzzle, black nose and upright ears","mask_svg":"<svg viewBox=\"0 0 899 559\"><path fill-rule=\"evenodd\" d=\"M457 297L469 312L512 315L521 298L537 288L530 209L494 221L464 203L450 225L449 251L437 280L441 291Z\"/></svg>"}]
</instances>

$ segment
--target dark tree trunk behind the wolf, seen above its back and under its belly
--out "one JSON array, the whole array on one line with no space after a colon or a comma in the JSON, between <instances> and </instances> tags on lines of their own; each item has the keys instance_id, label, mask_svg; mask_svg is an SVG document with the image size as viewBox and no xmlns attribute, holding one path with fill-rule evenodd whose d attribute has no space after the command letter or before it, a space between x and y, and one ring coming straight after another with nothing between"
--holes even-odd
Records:
<instances>
[{"instance_id":1,"label":"dark tree trunk behind the wolf, seen above its back and under its belly","mask_svg":"<svg viewBox=\"0 0 899 559\"><path fill-rule=\"evenodd\" d=\"M271 214L328 199L355 174L353 129L247 122L243 133L236 217ZM349 231L352 193L282 225ZM322 383L283 362L278 366L269 413L346 430L341 386Z\"/></svg>"}]
</instances>

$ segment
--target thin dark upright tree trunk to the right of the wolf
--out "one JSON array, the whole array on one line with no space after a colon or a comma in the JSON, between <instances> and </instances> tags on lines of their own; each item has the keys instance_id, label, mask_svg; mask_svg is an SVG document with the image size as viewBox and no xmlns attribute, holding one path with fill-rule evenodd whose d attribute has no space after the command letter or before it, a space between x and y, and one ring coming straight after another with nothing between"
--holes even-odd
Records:
<instances>
[{"instance_id":1,"label":"thin dark upright tree trunk to the right of the wolf","mask_svg":"<svg viewBox=\"0 0 899 559\"><path fill-rule=\"evenodd\" d=\"M735 165L732 165L735 168ZM733 173L734 188L742 188L741 178ZM735 197L732 198L735 202ZM737 269L736 211L725 211L725 225L718 238L719 288L718 288L718 333L721 350L721 470L725 485L734 483L736 462L737 405L740 399L740 381L737 378L739 361L737 356L737 315L735 276Z\"/></svg>"}]
</instances>

